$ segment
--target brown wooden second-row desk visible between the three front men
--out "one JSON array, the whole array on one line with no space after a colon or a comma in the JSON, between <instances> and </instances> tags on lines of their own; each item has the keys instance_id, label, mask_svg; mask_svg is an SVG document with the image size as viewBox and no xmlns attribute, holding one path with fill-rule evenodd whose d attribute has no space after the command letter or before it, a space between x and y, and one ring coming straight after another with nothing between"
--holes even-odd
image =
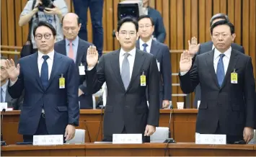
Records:
<instances>
[{"instance_id":1,"label":"brown wooden second-row desk visible between the three front men","mask_svg":"<svg viewBox=\"0 0 256 157\"><path fill-rule=\"evenodd\" d=\"M171 136L177 142L195 142L195 121L198 109L160 109L160 127L169 127L169 117L172 111L170 124ZM20 111L10 111L4 113L3 135L8 145L22 142L22 135L17 133L19 125ZM101 109L81 109L79 127L86 131L85 141L93 143L96 138L102 140L104 110ZM99 133L98 133L99 132ZM98 137L97 137L98 135Z\"/></svg>"}]
</instances>

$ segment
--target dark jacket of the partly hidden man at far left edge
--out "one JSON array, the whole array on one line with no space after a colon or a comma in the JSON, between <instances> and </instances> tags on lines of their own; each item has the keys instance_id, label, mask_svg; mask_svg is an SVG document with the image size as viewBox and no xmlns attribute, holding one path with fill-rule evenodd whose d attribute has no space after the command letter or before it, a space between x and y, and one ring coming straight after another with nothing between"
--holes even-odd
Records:
<instances>
[{"instance_id":1,"label":"dark jacket of the partly hidden man at far left edge","mask_svg":"<svg viewBox=\"0 0 256 157\"><path fill-rule=\"evenodd\" d=\"M8 86L9 86L9 83L8 83ZM7 102L8 108L13 108L14 110L22 109L23 99L24 99L24 91L22 91L22 95L19 98L13 99L10 96L8 89L6 89L5 102Z\"/></svg>"}]
</instances>

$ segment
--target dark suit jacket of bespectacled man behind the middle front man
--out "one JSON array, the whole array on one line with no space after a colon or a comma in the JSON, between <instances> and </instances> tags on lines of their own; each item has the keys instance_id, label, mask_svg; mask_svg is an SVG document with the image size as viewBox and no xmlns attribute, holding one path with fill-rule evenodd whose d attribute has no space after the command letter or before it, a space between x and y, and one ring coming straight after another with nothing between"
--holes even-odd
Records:
<instances>
[{"instance_id":1,"label":"dark suit jacket of bespectacled man behind the middle front man","mask_svg":"<svg viewBox=\"0 0 256 157\"><path fill-rule=\"evenodd\" d=\"M139 40L136 42L136 48L140 49ZM159 97L160 107L162 107L162 100L172 100L172 67L169 48L161 42L152 40L150 53L156 57L160 66Z\"/></svg>"}]
</instances>

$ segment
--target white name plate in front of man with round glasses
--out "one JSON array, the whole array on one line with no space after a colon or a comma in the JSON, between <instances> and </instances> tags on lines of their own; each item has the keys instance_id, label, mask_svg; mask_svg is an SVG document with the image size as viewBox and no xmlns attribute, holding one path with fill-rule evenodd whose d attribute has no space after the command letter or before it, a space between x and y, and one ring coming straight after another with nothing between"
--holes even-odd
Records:
<instances>
[{"instance_id":1,"label":"white name plate in front of man with round glasses","mask_svg":"<svg viewBox=\"0 0 256 157\"><path fill-rule=\"evenodd\" d=\"M63 135L33 135L33 145L63 145Z\"/></svg>"}]
</instances>

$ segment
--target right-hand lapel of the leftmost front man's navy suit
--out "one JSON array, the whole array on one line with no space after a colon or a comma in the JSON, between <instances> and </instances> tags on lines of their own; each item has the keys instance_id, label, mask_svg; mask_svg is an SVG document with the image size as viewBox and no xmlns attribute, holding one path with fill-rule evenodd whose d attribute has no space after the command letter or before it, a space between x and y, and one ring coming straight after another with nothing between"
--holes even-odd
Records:
<instances>
[{"instance_id":1,"label":"right-hand lapel of the leftmost front man's navy suit","mask_svg":"<svg viewBox=\"0 0 256 157\"><path fill-rule=\"evenodd\" d=\"M58 53L54 52L54 57L53 57L53 68L50 72L50 79L49 79L49 83L47 88L45 89L45 91L48 89L48 87L50 86L51 82L53 81L54 77L56 76L58 69L61 68L61 58L62 56L59 55Z\"/></svg>"}]
</instances>

